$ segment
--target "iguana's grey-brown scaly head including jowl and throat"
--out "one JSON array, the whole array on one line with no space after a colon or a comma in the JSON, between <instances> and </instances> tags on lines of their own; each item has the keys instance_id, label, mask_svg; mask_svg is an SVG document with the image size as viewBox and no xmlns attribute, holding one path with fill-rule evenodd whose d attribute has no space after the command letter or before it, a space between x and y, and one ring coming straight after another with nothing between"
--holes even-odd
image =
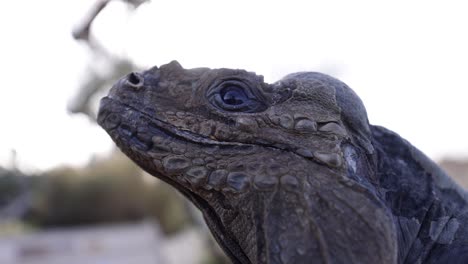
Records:
<instances>
[{"instance_id":1,"label":"iguana's grey-brown scaly head including jowl and throat","mask_svg":"<svg viewBox=\"0 0 468 264\"><path fill-rule=\"evenodd\" d=\"M394 263L367 115L342 82L177 62L122 78L99 124L200 210L234 263Z\"/></svg>"}]
</instances>

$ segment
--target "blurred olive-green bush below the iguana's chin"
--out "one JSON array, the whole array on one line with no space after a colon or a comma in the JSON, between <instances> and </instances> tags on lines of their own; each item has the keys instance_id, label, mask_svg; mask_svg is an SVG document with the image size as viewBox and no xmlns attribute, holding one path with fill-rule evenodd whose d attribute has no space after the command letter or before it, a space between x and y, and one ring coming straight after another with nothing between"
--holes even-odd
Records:
<instances>
[{"instance_id":1,"label":"blurred olive-green bush below the iguana's chin","mask_svg":"<svg viewBox=\"0 0 468 264\"><path fill-rule=\"evenodd\" d=\"M145 179L120 152L85 168L62 167L35 177L25 220L38 227L157 220L165 233L188 224L182 197L157 179Z\"/></svg>"}]
</instances>

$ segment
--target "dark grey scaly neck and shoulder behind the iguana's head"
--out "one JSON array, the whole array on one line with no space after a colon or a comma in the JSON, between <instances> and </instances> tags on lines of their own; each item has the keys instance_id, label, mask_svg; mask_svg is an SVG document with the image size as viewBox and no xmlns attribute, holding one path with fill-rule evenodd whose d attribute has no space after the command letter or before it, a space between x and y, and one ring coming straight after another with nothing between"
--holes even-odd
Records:
<instances>
[{"instance_id":1,"label":"dark grey scaly neck and shoulder behind the iguana's head","mask_svg":"<svg viewBox=\"0 0 468 264\"><path fill-rule=\"evenodd\" d=\"M398 263L449 263L432 256L448 257L449 246L466 244L466 192L397 134L381 127L372 132L377 179L398 232Z\"/></svg>"}]
</instances>

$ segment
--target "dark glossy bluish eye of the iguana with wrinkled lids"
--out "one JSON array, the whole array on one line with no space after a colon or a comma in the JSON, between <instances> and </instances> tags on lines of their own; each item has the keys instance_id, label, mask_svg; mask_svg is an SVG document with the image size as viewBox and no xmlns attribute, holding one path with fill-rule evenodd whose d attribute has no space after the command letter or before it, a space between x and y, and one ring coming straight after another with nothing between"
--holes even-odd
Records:
<instances>
[{"instance_id":1,"label":"dark glossy bluish eye of the iguana with wrinkled lids","mask_svg":"<svg viewBox=\"0 0 468 264\"><path fill-rule=\"evenodd\" d=\"M226 80L211 89L208 98L213 105L229 112L260 112L266 105L240 80Z\"/></svg>"}]
</instances>

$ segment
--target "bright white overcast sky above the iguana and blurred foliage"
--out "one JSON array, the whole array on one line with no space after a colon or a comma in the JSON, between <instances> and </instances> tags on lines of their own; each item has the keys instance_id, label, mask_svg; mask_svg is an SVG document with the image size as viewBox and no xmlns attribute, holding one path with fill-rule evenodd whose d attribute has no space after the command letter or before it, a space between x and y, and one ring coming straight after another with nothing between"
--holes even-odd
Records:
<instances>
[{"instance_id":1,"label":"bright white overcast sky above the iguana and blurred foliage","mask_svg":"<svg viewBox=\"0 0 468 264\"><path fill-rule=\"evenodd\" d=\"M66 112L90 59L71 29L91 0L0 4L0 165L84 164L112 144ZM245 68L275 81L294 71L337 76L371 123L432 158L468 156L468 6L464 1L153 0L116 2L95 34L142 66Z\"/></svg>"}]
</instances>

